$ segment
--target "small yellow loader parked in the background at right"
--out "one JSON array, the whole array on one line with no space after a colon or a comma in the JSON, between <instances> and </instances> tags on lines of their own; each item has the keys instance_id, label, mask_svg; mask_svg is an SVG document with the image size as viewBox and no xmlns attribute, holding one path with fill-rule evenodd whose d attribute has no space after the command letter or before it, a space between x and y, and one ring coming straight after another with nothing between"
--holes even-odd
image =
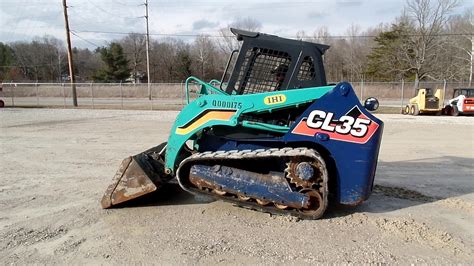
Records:
<instances>
[{"instance_id":1,"label":"small yellow loader parked in the background at right","mask_svg":"<svg viewBox=\"0 0 474 266\"><path fill-rule=\"evenodd\" d=\"M403 108L404 115L435 114L440 115L443 110L444 92L443 89L424 88L417 89L416 96L411 98L409 104Z\"/></svg>"}]
</instances>

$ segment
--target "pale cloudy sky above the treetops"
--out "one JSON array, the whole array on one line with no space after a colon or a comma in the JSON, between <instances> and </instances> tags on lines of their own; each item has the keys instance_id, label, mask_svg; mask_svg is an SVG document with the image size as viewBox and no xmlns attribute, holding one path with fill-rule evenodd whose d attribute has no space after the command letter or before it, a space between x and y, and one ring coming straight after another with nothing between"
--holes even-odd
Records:
<instances>
[{"instance_id":1,"label":"pale cloudy sky above the treetops","mask_svg":"<svg viewBox=\"0 0 474 266\"><path fill-rule=\"evenodd\" d=\"M145 0L67 0L73 46L95 48L125 35L145 30ZM239 18L253 18L262 32L295 36L325 26L332 35L344 35L352 25L362 30L390 23L406 0L149 0L150 33L218 35ZM455 13L474 7L463 1ZM0 42L31 40L51 35L65 37L62 0L0 0ZM99 32L99 33L98 33ZM109 32L109 33L100 33ZM186 37L179 37L185 38ZM187 37L189 40L190 37Z\"/></svg>"}]
</instances>

